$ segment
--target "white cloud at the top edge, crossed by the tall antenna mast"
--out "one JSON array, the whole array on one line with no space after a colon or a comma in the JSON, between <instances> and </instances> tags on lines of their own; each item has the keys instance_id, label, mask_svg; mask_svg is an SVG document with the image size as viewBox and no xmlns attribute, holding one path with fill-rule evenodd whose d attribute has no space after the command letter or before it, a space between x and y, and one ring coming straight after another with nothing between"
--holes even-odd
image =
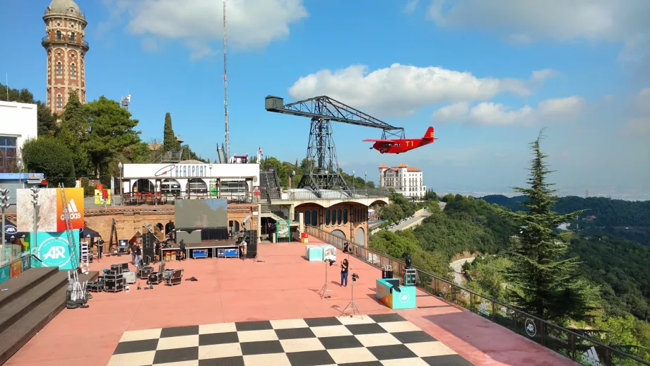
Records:
<instances>
[{"instance_id":1,"label":"white cloud at the top edge, crossed by the tall antenna mast","mask_svg":"<svg viewBox=\"0 0 650 366\"><path fill-rule=\"evenodd\" d=\"M131 33L185 40L193 58L215 54L210 41L223 37L221 1L105 0L105 3L111 11L117 9L128 14ZM266 47L287 37L291 23L308 16L302 0L228 1L226 14L228 44L235 49ZM103 24L102 31L107 26Z\"/></svg>"}]
</instances>

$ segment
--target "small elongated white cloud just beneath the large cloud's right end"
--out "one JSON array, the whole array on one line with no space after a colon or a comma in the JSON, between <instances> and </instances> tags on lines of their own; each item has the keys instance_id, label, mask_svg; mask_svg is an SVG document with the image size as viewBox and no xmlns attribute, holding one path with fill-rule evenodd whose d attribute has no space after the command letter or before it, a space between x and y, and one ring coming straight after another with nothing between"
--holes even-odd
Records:
<instances>
[{"instance_id":1,"label":"small elongated white cloud just beneath the large cloud's right end","mask_svg":"<svg viewBox=\"0 0 650 366\"><path fill-rule=\"evenodd\" d=\"M544 100L536 108L525 105L519 110L493 102L482 102L474 107L470 107L467 102L459 102L436 110L432 114L432 120L467 122L483 126L531 125L540 121L576 119L584 105L584 100L577 96Z\"/></svg>"}]
</instances>

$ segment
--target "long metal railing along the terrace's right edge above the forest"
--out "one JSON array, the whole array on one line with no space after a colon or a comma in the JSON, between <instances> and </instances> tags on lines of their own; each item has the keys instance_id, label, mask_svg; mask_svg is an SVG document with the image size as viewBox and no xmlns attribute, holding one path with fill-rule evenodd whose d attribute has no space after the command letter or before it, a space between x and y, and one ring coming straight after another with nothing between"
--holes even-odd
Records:
<instances>
[{"instance_id":1,"label":"long metal railing along the terrace's right edge above the forest","mask_svg":"<svg viewBox=\"0 0 650 366\"><path fill-rule=\"evenodd\" d=\"M341 237L336 237L318 228L305 227L305 230L314 237L329 244L343 248L348 242ZM350 244L350 254L358 257L372 266L382 268L390 265L393 273L403 277L406 264L399 260L376 252L372 249L362 247L358 244ZM595 341L584 334L572 331L562 326L551 324L544 319L522 312L512 305L494 300L485 295L480 295L468 290L452 281L439 278L431 273L418 271L418 288L432 295L443 297L449 302L454 302L481 317L504 326L514 333L518 333L542 346L554 350L560 355L586 366L611 366L611 365L650 365L634 355L622 352L603 343Z\"/></svg>"}]
</instances>

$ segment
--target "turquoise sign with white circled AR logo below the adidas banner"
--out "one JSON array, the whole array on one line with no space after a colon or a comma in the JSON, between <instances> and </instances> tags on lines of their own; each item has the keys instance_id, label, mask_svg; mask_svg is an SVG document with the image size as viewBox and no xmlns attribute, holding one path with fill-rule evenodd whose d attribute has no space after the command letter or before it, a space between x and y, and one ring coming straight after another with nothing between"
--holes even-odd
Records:
<instances>
[{"instance_id":1,"label":"turquoise sign with white circled AR logo below the adidas banner","mask_svg":"<svg viewBox=\"0 0 650 366\"><path fill-rule=\"evenodd\" d=\"M72 230L73 237L79 237L79 230ZM76 269L70 256L70 245L66 232L39 232L36 256L42 261L38 266ZM79 245L74 245L76 258L79 258Z\"/></svg>"}]
</instances>

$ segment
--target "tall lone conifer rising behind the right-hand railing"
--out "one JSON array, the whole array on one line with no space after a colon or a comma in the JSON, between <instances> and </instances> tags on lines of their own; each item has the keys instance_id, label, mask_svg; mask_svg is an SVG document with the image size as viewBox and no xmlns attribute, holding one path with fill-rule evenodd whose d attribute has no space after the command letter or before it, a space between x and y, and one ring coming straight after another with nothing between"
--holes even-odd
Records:
<instances>
[{"instance_id":1,"label":"tall lone conifer rising behind the right-hand railing","mask_svg":"<svg viewBox=\"0 0 650 366\"><path fill-rule=\"evenodd\" d=\"M529 187L512 187L528 198L523 203L528 211L502 211L520 227L519 235L512 241L513 265L505 273L508 295L516 306L544 319L581 319L594 309L598 289L579 278L580 263L577 258L567 258L569 245L555 229L583 211L567 215L552 211L557 196L556 190L550 189L554 184L546 182L553 171L545 163L548 155L540 150L543 131L531 143Z\"/></svg>"}]
</instances>

